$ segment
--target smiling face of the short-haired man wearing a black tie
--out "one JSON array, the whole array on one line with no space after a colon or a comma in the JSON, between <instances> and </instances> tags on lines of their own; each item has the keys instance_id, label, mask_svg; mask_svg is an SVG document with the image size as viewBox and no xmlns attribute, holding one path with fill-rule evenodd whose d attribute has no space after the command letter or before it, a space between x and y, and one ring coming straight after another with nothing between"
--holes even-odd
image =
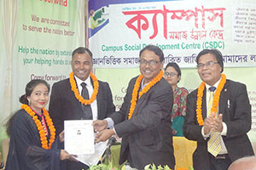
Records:
<instances>
[{"instance_id":1,"label":"smiling face of the short-haired man wearing a black tie","mask_svg":"<svg viewBox=\"0 0 256 170\"><path fill-rule=\"evenodd\" d=\"M92 60L89 54L74 54L72 58L72 70L76 77L85 81L92 69Z\"/></svg>"}]
</instances>

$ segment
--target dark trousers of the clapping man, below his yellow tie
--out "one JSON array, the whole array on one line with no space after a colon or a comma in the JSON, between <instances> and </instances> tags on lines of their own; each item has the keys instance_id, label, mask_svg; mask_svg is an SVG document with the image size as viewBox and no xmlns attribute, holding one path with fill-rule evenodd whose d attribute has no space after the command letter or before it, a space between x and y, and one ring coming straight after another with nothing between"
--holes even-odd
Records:
<instances>
[{"instance_id":1,"label":"dark trousers of the clapping man, below his yellow tie","mask_svg":"<svg viewBox=\"0 0 256 170\"><path fill-rule=\"evenodd\" d=\"M228 154L218 155L216 157L210 153L208 154L210 158L210 170L227 170L232 163Z\"/></svg>"}]
</instances>

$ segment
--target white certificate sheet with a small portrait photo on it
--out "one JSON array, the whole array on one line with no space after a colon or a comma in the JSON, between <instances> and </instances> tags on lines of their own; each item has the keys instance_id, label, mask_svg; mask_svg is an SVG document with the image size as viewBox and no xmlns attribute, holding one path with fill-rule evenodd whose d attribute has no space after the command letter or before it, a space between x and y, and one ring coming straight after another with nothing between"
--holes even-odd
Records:
<instances>
[{"instance_id":1,"label":"white certificate sheet with a small portrait photo on it","mask_svg":"<svg viewBox=\"0 0 256 170\"><path fill-rule=\"evenodd\" d=\"M64 148L69 154L94 154L92 120L64 121Z\"/></svg>"}]
</instances>

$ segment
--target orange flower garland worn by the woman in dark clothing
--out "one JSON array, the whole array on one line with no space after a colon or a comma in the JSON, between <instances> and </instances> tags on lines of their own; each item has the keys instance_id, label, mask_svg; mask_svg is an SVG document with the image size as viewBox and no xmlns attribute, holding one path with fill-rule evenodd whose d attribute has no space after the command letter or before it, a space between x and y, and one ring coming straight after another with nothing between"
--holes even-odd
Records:
<instances>
[{"instance_id":1,"label":"orange flower garland worn by the woman in dark clothing","mask_svg":"<svg viewBox=\"0 0 256 170\"><path fill-rule=\"evenodd\" d=\"M53 144L55 141L55 126L53 125L53 122L52 122L51 118L49 117L48 111L46 111L43 108L43 114L44 114L44 117L46 120L46 124L49 127L49 133L50 133L49 144L48 144L48 140L46 138L46 134L44 132L43 126L42 126L41 122L38 120L38 116L35 116L36 113L34 111L32 111L32 109L28 105L21 105L20 108L25 110L27 114L32 116L33 121L36 123L36 125L38 127L42 148L49 150L51 147L51 144Z\"/></svg>"}]
</instances>

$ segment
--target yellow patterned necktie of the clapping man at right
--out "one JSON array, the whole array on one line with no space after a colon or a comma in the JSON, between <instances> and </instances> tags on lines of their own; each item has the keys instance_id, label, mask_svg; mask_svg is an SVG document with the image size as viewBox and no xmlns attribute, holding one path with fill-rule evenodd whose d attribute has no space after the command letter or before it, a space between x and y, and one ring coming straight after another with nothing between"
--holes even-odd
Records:
<instances>
[{"instance_id":1,"label":"yellow patterned necktie of the clapping man at right","mask_svg":"<svg viewBox=\"0 0 256 170\"><path fill-rule=\"evenodd\" d=\"M212 114L211 109L212 109L213 94L215 89L216 89L215 87L209 88L210 96L209 96L209 101L207 105L207 116L210 116ZM217 116L217 113L215 113L215 116ZM212 156L217 156L219 151L221 150L220 133L211 131L210 135L211 135L210 139L207 142L207 150L212 154Z\"/></svg>"}]
</instances>

